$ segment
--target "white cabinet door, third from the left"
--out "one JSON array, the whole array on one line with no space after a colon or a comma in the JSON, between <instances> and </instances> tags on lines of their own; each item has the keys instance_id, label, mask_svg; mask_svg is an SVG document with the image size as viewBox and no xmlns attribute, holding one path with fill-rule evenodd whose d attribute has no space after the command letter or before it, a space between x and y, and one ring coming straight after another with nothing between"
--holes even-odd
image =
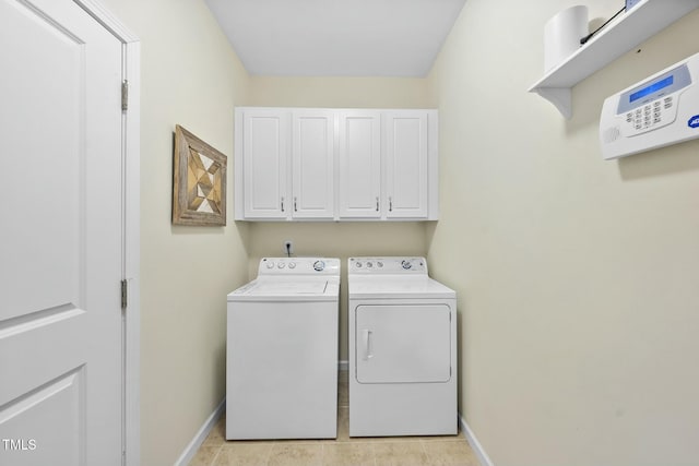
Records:
<instances>
[{"instance_id":1,"label":"white cabinet door, third from the left","mask_svg":"<svg viewBox=\"0 0 699 466\"><path fill-rule=\"evenodd\" d=\"M339 115L340 217L381 216L381 135L378 111L343 111Z\"/></svg>"}]
</instances>

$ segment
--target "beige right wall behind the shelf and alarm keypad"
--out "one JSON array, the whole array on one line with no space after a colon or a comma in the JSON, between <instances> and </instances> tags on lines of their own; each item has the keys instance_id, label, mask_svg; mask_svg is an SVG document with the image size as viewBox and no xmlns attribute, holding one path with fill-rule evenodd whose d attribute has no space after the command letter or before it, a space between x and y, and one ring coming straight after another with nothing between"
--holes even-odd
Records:
<instances>
[{"instance_id":1,"label":"beige right wall behind the shelf and alarm keypad","mask_svg":"<svg viewBox=\"0 0 699 466\"><path fill-rule=\"evenodd\" d=\"M526 89L571 4L469 0L429 76L461 413L498 466L696 464L699 142L604 162L597 127L605 97L697 52L699 12L579 84L566 121Z\"/></svg>"}]
</instances>

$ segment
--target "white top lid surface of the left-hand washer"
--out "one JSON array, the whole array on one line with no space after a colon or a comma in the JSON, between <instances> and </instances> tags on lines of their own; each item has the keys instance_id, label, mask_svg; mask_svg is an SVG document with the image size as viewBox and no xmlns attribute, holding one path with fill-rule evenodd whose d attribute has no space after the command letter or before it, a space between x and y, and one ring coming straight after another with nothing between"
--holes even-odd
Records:
<instances>
[{"instance_id":1,"label":"white top lid surface of the left-hand washer","mask_svg":"<svg viewBox=\"0 0 699 466\"><path fill-rule=\"evenodd\" d=\"M336 301L336 277L258 277L228 295L228 301Z\"/></svg>"}]
</instances>

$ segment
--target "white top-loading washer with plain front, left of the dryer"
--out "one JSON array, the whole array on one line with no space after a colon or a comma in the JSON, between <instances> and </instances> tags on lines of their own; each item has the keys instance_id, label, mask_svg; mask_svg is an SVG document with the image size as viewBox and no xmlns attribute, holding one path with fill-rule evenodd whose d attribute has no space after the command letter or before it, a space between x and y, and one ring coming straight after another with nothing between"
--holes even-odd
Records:
<instances>
[{"instance_id":1,"label":"white top-loading washer with plain front, left of the dryer","mask_svg":"<svg viewBox=\"0 0 699 466\"><path fill-rule=\"evenodd\" d=\"M337 434L340 260L265 258L228 295L226 439Z\"/></svg>"}]
</instances>

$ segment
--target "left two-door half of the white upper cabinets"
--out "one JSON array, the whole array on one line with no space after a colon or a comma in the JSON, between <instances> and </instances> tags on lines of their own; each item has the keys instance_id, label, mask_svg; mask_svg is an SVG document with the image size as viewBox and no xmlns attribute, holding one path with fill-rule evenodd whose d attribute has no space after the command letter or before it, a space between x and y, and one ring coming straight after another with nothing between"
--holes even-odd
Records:
<instances>
[{"instance_id":1,"label":"left two-door half of the white upper cabinets","mask_svg":"<svg viewBox=\"0 0 699 466\"><path fill-rule=\"evenodd\" d=\"M333 219L334 115L236 110L236 213L246 220Z\"/></svg>"}]
</instances>

